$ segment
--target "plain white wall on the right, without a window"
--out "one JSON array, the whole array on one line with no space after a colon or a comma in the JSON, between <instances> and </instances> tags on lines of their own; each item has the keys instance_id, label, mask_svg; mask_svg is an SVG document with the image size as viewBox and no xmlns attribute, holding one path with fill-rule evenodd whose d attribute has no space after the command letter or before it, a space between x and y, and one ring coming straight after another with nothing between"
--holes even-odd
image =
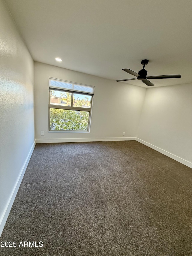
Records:
<instances>
[{"instance_id":1,"label":"plain white wall on the right, without a window","mask_svg":"<svg viewBox=\"0 0 192 256\"><path fill-rule=\"evenodd\" d=\"M192 84L147 89L137 137L192 163Z\"/></svg>"}]
</instances>

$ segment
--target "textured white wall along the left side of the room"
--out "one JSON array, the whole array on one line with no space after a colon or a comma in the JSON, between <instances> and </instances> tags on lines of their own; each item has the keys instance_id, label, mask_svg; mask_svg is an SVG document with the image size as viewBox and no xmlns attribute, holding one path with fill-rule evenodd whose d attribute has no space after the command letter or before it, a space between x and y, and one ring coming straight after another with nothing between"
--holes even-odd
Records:
<instances>
[{"instance_id":1,"label":"textured white wall along the left side of the room","mask_svg":"<svg viewBox=\"0 0 192 256\"><path fill-rule=\"evenodd\" d=\"M0 0L0 234L34 145L34 63ZM19 185L19 184L18 184ZM7 215L8 216L8 215Z\"/></svg>"}]
</instances>

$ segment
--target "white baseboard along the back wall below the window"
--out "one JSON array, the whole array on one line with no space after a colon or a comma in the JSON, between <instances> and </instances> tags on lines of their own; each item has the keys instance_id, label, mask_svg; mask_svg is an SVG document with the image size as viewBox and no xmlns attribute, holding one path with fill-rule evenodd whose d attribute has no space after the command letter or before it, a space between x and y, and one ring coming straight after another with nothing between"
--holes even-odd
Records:
<instances>
[{"instance_id":1,"label":"white baseboard along the back wall below the window","mask_svg":"<svg viewBox=\"0 0 192 256\"><path fill-rule=\"evenodd\" d=\"M71 138L71 139L36 139L36 143L59 143L59 142L91 142L91 141L118 141L135 140L135 137L117 137L117 138Z\"/></svg>"}]
</instances>

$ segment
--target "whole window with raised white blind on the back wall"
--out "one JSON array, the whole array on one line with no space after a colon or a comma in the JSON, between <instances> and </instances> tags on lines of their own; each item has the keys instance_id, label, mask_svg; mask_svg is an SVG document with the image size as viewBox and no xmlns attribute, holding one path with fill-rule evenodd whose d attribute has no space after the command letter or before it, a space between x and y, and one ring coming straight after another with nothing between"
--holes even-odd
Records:
<instances>
[{"instance_id":1,"label":"whole window with raised white blind on the back wall","mask_svg":"<svg viewBox=\"0 0 192 256\"><path fill-rule=\"evenodd\" d=\"M88 131L94 86L49 78L49 131Z\"/></svg>"}]
</instances>

